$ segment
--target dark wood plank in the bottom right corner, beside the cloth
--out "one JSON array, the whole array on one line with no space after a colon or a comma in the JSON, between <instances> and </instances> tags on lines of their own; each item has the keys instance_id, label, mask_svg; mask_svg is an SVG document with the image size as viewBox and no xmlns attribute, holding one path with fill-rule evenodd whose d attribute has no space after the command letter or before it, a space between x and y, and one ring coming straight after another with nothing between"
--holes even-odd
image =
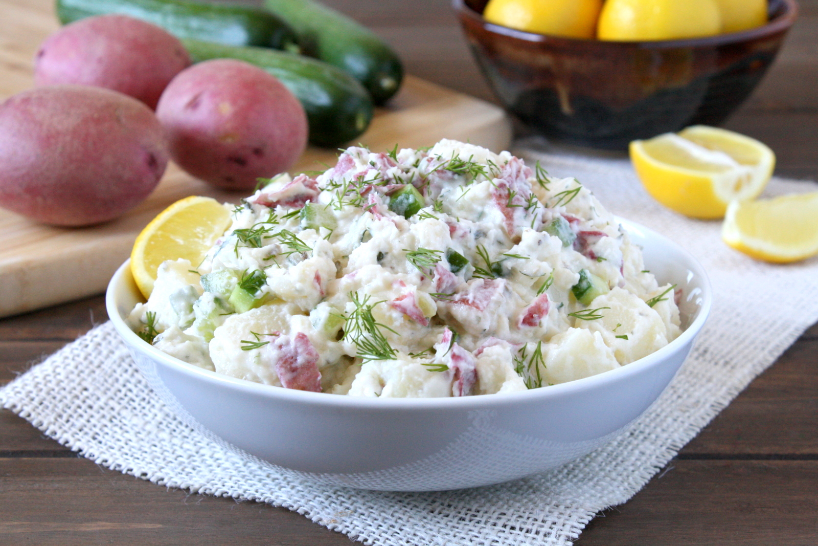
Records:
<instances>
[{"instance_id":1,"label":"dark wood plank in the bottom right corner, beside the cloth","mask_svg":"<svg viewBox=\"0 0 818 546\"><path fill-rule=\"evenodd\" d=\"M810 546L818 538L818 462L673 461L577 546Z\"/></svg>"}]
</instances>

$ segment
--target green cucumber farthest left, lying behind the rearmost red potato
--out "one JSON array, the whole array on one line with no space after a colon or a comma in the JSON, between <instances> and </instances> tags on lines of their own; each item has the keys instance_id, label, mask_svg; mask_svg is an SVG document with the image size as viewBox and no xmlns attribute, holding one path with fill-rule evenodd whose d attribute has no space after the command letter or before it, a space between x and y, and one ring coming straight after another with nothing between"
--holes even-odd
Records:
<instances>
[{"instance_id":1,"label":"green cucumber farthest left, lying behind the rearmost red potato","mask_svg":"<svg viewBox=\"0 0 818 546\"><path fill-rule=\"evenodd\" d=\"M299 49L298 37L289 25L256 7L187 0L56 0L56 14L63 25L108 13L146 20L177 38L230 46Z\"/></svg>"}]
</instances>

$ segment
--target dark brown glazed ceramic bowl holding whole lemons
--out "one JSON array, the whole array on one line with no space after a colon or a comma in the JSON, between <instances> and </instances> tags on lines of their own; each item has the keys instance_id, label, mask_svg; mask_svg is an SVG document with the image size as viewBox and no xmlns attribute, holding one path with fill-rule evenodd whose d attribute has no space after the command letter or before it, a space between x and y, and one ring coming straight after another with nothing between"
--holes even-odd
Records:
<instances>
[{"instance_id":1,"label":"dark brown glazed ceramic bowl holding whole lemons","mask_svg":"<svg viewBox=\"0 0 818 546\"><path fill-rule=\"evenodd\" d=\"M529 129L584 146L718 125L752 93L798 15L771 0L757 29L663 42L562 38L486 22L488 0L453 0L497 98Z\"/></svg>"}]
</instances>

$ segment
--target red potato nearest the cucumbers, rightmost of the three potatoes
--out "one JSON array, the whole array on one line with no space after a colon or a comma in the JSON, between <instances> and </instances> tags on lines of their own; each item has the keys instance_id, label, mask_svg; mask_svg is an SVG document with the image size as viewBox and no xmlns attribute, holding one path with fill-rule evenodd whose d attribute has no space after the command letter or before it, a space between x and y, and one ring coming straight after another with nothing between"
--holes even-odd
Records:
<instances>
[{"instance_id":1,"label":"red potato nearest the cucumbers, rightmost of the three potatoes","mask_svg":"<svg viewBox=\"0 0 818 546\"><path fill-rule=\"evenodd\" d=\"M170 155L217 187L247 192L284 172L307 145L307 115L275 77L244 61L215 59L183 70L156 115Z\"/></svg>"}]
</instances>

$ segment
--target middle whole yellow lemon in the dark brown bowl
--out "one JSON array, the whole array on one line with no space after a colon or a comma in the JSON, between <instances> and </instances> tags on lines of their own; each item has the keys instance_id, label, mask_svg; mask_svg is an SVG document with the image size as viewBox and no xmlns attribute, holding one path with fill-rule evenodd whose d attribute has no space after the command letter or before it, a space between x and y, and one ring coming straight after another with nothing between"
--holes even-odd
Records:
<instances>
[{"instance_id":1,"label":"middle whole yellow lemon in the dark brown bowl","mask_svg":"<svg viewBox=\"0 0 818 546\"><path fill-rule=\"evenodd\" d=\"M608 0L596 35L600 40L641 42L719 33L716 0Z\"/></svg>"}]
</instances>

